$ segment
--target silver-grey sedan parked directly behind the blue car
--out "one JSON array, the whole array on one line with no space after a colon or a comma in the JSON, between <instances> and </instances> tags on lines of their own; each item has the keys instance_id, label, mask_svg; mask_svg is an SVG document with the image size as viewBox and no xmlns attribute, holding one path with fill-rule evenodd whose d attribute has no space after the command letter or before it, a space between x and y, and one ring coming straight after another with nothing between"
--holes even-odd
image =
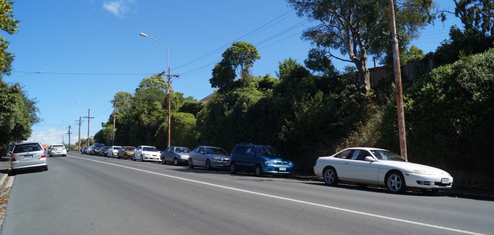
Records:
<instances>
[{"instance_id":1,"label":"silver-grey sedan parked directly behind the blue car","mask_svg":"<svg viewBox=\"0 0 494 235\"><path fill-rule=\"evenodd\" d=\"M228 168L230 156L223 148L213 146L199 146L189 153L189 167Z\"/></svg>"}]
</instances>

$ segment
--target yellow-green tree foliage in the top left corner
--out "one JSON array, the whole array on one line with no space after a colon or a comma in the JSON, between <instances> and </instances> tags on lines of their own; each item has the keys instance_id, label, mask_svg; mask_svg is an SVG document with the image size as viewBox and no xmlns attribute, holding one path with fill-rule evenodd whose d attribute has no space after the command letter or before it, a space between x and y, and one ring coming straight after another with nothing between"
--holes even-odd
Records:
<instances>
[{"instance_id":1,"label":"yellow-green tree foliage in the top left corner","mask_svg":"<svg viewBox=\"0 0 494 235\"><path fill-rule=\"evenodd\" d=\"M12 3L9 0L0 0L0 29L8 34L14 34L17 32L18 20L13 18ZM0 36L0 79L2 75L10 75L11 64L14 59L14 55L6 51L8 48L8 41Z\"/></svg>"}]
</instances>

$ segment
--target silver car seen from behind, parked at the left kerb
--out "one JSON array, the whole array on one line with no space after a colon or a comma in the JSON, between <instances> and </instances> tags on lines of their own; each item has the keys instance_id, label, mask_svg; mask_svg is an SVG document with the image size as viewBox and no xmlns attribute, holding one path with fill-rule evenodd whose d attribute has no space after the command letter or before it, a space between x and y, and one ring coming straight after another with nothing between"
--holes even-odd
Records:
<instances>
[{"instance_id":1,"label":"silver car seen from behind, parked at the left kerb","mask_svg":"<svg viewBox=\"0 0 494 235\"><path fill-rule=\"evenodd\" d=\"M37 142L26 142L16 144L10 152L10 173L22 168L39 167L43 170L48 170L46 163L46 153Z\"/></svg>"}]
</instances>

